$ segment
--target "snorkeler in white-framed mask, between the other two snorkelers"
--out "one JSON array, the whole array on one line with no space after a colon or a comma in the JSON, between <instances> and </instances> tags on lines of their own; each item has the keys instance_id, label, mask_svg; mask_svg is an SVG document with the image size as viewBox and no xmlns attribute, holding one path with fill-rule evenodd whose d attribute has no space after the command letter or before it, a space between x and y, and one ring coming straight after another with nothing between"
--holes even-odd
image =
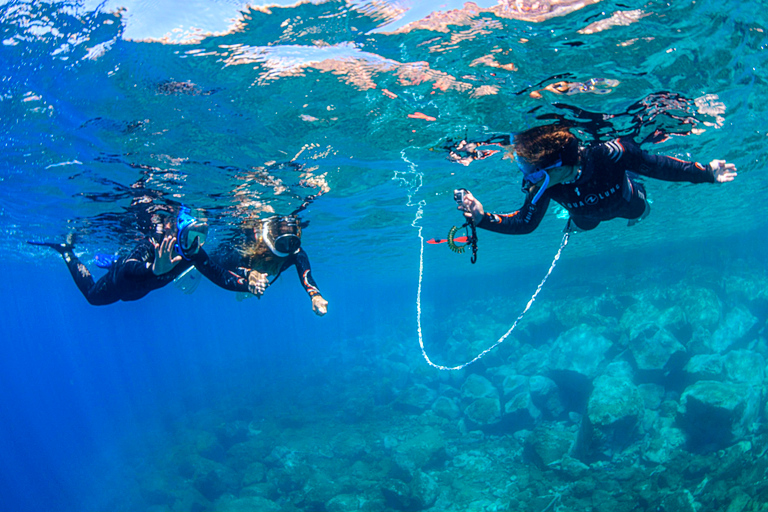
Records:
<instances>
[{"instance_id":1,"label":"snorkeler in white-framed mask, between the other two snorkelers","mask_svg":"<svg viewBox=\"0 0 768 512\"><path fill-rule=\"evenodd\" d=\"M247 269L251 276L258 275L261 293L283 271L296 266L299 280L312 299L312 310L318 316L328 312L328 301L320 295L309 257L301 248L301 221L296 215L248 222L237 239L219 246L214 256L227 268ZM269 276L274 276L271 281Z\"/></svg>"}]
</instances>

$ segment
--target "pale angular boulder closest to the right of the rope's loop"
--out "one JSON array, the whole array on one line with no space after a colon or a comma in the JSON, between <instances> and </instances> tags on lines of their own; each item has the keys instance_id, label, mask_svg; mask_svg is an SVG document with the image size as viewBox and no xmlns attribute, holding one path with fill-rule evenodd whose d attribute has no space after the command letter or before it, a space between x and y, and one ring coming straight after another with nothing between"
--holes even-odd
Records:
<instances>
[{"instance_id":1,"label":"pale angular boulder closest to the right of the rope's loop","mask_svg":"<svg viewBox=\"0 0 768 512\"><path fill-rule=\"evenodd\" d=\"M611 346L602 334L582 324L561 334L552 344L548 367L594 379L604 366Z\"/></svg>"}]
</instances>

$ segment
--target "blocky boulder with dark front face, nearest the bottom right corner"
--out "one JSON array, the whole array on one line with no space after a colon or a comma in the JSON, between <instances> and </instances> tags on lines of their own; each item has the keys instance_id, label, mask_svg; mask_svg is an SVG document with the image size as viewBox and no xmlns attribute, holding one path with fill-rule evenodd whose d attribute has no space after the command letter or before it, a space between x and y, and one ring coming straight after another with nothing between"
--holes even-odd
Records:
<instances>
[{"instance_id":1,"label":"blocky boulder with dark front face, nearest the bottom right corner","mask_svg":"<svg viewBox=\"0 0 768 512\"><path fill-rule=\"evenodd\" d=\"M688 448L717 450L747 435L758 417L760 394L744 383L703 380L688 386L680 400Z\"/></svg>"}]
</instances>

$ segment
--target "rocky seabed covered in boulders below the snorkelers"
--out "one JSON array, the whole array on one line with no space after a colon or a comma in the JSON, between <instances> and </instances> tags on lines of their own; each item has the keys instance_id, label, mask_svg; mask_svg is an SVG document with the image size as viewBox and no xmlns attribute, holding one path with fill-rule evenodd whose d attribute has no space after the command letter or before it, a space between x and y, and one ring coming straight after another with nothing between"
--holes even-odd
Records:
<instances>
[{"instance_id":1,"label":"rocky seabed covered in boulders below the snorkelers","mask_svg":"<svg viewBox=\"0 0 768 512\"><path fill-rule=\"evenodd\" d=\"M551 290L459 372L402 337L340 341L259 405L199 411L135 471L153 511L768 510L765 273ZM616 291L621 290L621 291ZM546 295L546 294L543 294ZM506 329L466 306L433 359ZM147 470L147 467L151 467Z\"/></svg>"}]
</instances>

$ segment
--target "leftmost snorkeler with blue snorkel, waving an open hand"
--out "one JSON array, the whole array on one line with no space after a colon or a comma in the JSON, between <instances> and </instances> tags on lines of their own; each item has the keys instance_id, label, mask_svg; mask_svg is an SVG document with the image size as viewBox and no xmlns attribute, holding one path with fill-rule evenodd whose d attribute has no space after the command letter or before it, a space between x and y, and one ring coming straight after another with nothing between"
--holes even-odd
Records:
<instances>
[{"instance_id":1,"label":"leftmost snorkeler with blue snorkel, waving an open hand","mask_svg":"<svg viewBox=\"0 0 768 512\"><path fill-rule=\"evenodd\" d=\"M94 281L88 268L75 256L71 243L28 243L50 247L61 254L75 284L94 306L138 300L171 283L193 265L226 290L261 295L266 282L257 272L237 274L211 261L203 251L207 235L208 224L182 208L175 219L166 216L156 224L155 232L144 238L128 256L104 262L108 270L98 281Z\"/></svg>"}]
</instances>

